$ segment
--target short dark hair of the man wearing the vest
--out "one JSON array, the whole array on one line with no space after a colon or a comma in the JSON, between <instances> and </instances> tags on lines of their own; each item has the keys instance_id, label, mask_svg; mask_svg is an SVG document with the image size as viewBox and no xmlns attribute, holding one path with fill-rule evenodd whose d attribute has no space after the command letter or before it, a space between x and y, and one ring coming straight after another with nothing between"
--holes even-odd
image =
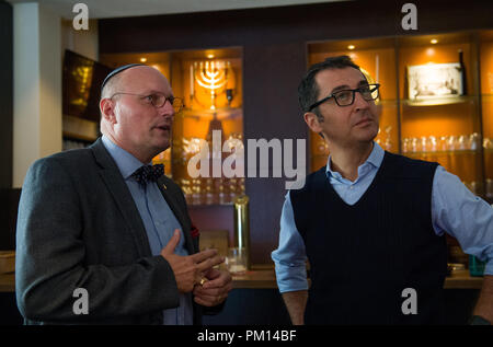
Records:
<instances>
[{"instance_id":1,"label":"short dark hair of the man wearing the vest","mask_svg":"<svg viewBox=\"0 0 493 347\"><path fill-rule=\"evenodd\" d=\"M354 63L354 61L351 60L348 56L330 57L322 62L312 65L308 69L307 73L298 85L298 101L303 112L309 112L310 106L317 102L317 99L319 96L319 85L317 84L314 79L317 73L323 70L344 68L354 68L360 71L359 67ZM317 115L319 120L323 119L319 113L318 107L313 108L312 112Z\"/></svg>"}]
</instances>

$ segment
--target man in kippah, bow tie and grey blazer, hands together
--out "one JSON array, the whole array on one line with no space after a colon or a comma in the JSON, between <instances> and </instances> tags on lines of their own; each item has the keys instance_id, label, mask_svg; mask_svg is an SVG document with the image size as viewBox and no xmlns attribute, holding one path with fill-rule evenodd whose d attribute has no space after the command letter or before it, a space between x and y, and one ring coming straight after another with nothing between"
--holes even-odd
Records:
<instances>
[{"instance_id":1,"label":"man in kippah, bow tie and grey blazer, hands together","mask_svg":"<svg viewBox=\"0 0 493 347\"><path fill-rule=\"evenodd\" d=\"M222 309L231 276L215 268L216 250L198 252L182 190L150 165L170 147L182 101L145 65L111 72L101 94L103 136L25 177L19 310L26 324L200 324Z\"/></svg>"}]
</instances>

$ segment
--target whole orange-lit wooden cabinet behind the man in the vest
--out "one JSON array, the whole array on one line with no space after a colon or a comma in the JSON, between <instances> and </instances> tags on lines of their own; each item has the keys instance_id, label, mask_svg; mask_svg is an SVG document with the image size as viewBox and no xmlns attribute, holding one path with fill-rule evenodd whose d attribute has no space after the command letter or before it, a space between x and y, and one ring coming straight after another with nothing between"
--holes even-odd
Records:
<instances>
[{"instance_id":1,"label":"whole orange-lit wooden cabinet behind the man in the vest","mask_svg":"<svg viewBox=\"0 0 493 347\"><path fill-rule=\"evenodd\" d=\"M381 84L376 141L383 149L436 161L474 194L492 199L492 31L308 45L309 65L337 55L352 57ZM329 153L317 135L310 142L314 171Z\"/></svg>"}]
</instances>

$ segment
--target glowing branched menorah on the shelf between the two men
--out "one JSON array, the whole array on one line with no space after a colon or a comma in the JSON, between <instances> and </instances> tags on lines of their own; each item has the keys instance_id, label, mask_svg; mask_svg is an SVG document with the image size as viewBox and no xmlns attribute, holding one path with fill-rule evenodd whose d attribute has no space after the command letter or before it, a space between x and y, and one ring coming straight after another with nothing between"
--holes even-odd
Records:
<instances>
[{"instance_id":1,"label":"glowing branched menorah on the shelf between the two men","mask_svg":"<svg viewBox=\"0 0 493 347\"><path fill-rule=\"evenodd\" d=\"M216 97L228 83L231 63L229 61L195 61L191 66L191 99L194 97L194 85L198 85L210 92L210 109L216 109ZM232 90L226 89L228 104L231 104Z\"/></svg>"}]
</instances>

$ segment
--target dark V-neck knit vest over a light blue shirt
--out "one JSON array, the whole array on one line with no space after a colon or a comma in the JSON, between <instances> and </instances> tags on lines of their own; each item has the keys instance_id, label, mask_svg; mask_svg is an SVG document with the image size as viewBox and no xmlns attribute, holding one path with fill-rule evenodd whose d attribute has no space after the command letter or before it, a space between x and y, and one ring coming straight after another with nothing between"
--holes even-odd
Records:
<instances>
[{"instance_id":1,"label":"dark V-neck knit vest over a light blue shirt","mask_svg":"<svg viewBox=\"0 0 493 347\"><path fill-rule=\"evenodd\" d=\"M436 166L386 152L353 206L332 188L325 167L290 192L310 262L307 324L443 323L447 248L432 225ZM406 288L416 291L417 314L403 314Z\"/></svg>"}]
</instances>

